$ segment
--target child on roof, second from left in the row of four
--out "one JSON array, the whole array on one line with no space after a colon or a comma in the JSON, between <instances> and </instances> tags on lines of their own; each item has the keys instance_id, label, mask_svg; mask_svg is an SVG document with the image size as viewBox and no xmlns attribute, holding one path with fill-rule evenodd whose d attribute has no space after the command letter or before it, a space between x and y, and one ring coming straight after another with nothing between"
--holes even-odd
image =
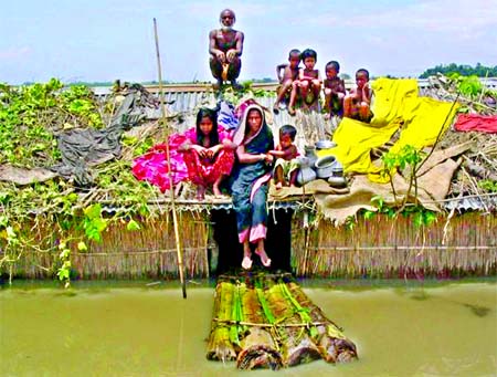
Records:
<instances>
[{"instance_id":1,"label":"child on roof, second from left in the row of four","mask_svg":"<svg viewBox=\"0 0 497 377\"><path fill-rule=\"evenodd\" d=\"M319 100L321 91L321 76L319 70L315 70L317 53L311 49L306 49L300 54L304 62L304 69L298 71L298 83L292 88L288 114L295 115L295 101L297 93L300 94L304 104L308 107L315 106Z\"/></svg>"}]
</instances>

